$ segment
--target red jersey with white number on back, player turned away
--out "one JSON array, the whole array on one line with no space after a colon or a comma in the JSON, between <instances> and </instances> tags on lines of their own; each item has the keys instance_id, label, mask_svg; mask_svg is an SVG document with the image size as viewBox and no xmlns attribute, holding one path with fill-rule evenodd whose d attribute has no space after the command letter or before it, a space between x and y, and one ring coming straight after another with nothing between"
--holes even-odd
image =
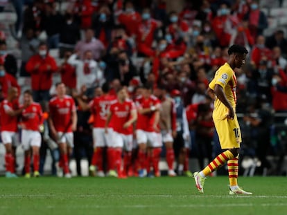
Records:
<instances>
[{"instance_id":1,"label":"red jersey with white number on back, player turned away","mask_svg":"<svg viewBox=\"0 0 287 215\"><path fill-rule=\"evenodd\" d=\"M107 111L115 100L116 97L114 95L101 95L100 97L95 97L94 100L89 102L89 107L94 115L94 128L105 128Z\"/></svg>"}]
</instances>

